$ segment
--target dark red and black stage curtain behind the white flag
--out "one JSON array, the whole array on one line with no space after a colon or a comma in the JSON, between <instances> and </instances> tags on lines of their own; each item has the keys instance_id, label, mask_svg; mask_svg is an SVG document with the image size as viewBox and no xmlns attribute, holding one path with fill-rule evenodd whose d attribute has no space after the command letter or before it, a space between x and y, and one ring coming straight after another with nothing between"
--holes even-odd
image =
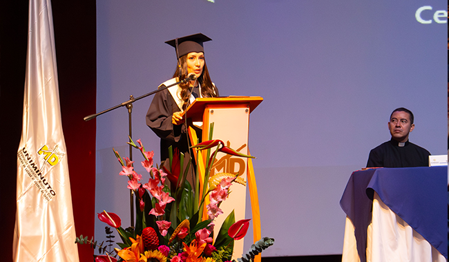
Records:
<instances>
[{"instance_id":1,"label":"dark red and black stage curtain behind the white flag","mask_svg":"<svg viewBox=\"0 0 449 262\"><path fill-rule=\"evenodd\" d=\"M53 1L53 24L61 118L66 140L77 235L94 234L96 110L95 1ZM0 245L12 261L16 210L17 150L21 137L28 34L28 1L0 4ZM75 242L75 239L73 239ZM80 261L92 261L89 245L79 245Z\"/></svg>"}]
</instances>

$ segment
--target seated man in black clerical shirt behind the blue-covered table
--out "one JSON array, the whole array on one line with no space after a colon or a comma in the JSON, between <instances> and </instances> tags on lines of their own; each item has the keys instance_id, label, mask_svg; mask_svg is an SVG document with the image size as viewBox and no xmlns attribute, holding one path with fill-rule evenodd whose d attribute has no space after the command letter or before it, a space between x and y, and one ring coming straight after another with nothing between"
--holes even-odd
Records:
<instances>
[{"instance_id":1,"label":"seated man in black clerical shirt behind the blue-covered table","mask_svg":"<svg viewBox=\"0 0 449 262\"><path fill-rule=\"evenodd\" d=\"M410 168L428 166L430 152L408 141L414 129L413 113L406 108L397 108L390 115L388 130L391 139L370 152L367 168Z\"/></svg>"}]
</instances>

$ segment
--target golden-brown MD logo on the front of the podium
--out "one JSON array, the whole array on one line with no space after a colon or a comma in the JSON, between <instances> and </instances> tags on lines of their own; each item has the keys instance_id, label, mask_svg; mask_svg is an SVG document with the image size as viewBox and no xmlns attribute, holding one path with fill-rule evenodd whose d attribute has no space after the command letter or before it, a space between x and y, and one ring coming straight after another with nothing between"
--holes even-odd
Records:
<instances>
[{"instance_id":1,"label":"golden-brown MD logo on the front of the podium","mask_svg":"<svg viewBox=\"0 0 449 262\"><path fill-rule=\"evenodd\" d=\"M240 148L238 148L236 151L240 152L240 150L246 148L246 146L247 144L245 143L241 145ZM231 142L227 141L227 147L231 148ZM245 163L245 160L241 157L235 157L231 156L230 154L225 154L225 156L220 159L216 159L213 162L212 170L215 170L213 174L216 174L218 172L225 172L230 174L239 174L239 176L241 176L245 173L246 167L247 165Z\"/></svg>"}]
</instances>

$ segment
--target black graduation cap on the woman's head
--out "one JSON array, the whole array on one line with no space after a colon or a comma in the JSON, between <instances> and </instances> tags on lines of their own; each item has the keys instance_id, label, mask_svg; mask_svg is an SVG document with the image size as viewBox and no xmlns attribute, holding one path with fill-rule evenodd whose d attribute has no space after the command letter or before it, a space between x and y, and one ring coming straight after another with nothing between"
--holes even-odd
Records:
<instances>
[{"instance_id":1,"label":"black graduation cap on the woman's head","mask_svg":"<svg viewBox=\"0 0 449 262\"><path fill-rule=\"evenodd\" d=\"M209 37L206 37L204 34L191 34L187 37L180 37L173 40L166 41L170 46L177 49L176 53L178 54L178 58L183 55L189 54L189 52L204 52L204 48L202 47L203 42L211 41ZM178 46L178 48L176 48Z\"/></svg>"}]
</instances>

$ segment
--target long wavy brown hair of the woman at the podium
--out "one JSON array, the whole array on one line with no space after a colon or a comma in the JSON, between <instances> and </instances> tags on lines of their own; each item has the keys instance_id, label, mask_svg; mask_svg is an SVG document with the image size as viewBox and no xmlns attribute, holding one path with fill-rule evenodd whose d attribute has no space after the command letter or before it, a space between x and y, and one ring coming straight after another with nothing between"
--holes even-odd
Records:
<instances>
[{"instance_id":1,"label":"long wavy brown hair of the woman at the podium","mask_svg":"<svg viewBox=\"0 0 449 262\"><path fill-rule=\"evenodd\" d=\"M187 55L180 57L179 61L181 66L176 66L175 74L173 77L179 77L179 80L184 80L187 78ZM202 97L216 97L218 92L215 86L213 86L211 77L209 77L209 70L207 70L206 60L204 60L204 67L202 68L202 74L198 77L198 83L201 85L201 95ZM187 108L187 101L189 101L189 82L180 84L181 88L181 99L184 101L182 103L182 109Z\"/></svg>"}]
</instances>

